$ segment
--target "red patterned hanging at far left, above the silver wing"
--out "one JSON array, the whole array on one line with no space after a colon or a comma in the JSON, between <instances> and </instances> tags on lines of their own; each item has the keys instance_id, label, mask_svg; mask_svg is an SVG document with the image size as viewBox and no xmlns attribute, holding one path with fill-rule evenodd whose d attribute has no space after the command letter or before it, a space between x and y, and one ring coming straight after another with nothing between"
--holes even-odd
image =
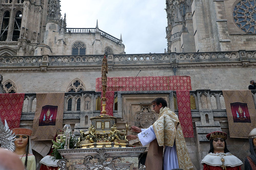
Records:
<instances>
[{"instance_id":1,"label":"red patterned hanging at far left, above the silver wing","mask_svg":"<svg viewBox=\"0 0 256 170\"><path fill-rule=\"evenodd\" d=\"M19 127L24 93L0 94L0 117L10 129Z\"/></svg>"}]
</instances>

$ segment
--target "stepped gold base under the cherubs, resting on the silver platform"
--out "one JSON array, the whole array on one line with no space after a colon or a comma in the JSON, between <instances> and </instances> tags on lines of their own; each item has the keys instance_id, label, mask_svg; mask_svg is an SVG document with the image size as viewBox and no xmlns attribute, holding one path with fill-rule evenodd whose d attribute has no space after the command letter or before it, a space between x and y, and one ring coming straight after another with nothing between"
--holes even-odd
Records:
<instances>
[{"instance_id":1,"label":"stepped gold base under the cherubs, resting on the silver platform","mask_svg":"<svg viewBox=\"0 0 256 170\"><path fill-rule=\"evenodd\" d=\"M126 140L114 140L113 142L102 140L96 143L92 143L90 140L85 140L77 143L77 148L128 148L135 147L130 145Z\"/></svg>"}]
</instances>

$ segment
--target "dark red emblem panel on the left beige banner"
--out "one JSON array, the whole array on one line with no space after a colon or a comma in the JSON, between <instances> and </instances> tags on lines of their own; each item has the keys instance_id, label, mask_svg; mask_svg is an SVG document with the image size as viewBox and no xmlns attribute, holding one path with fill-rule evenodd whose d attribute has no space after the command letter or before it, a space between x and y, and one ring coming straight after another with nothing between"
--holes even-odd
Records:
<instances>
[{"instance_id":1,"label":"dark red emblem panel on the left beige banner","mask_svg":"<svg viewBox=\"0 0 256 170\"><path fill-rule=\"evenodd\" d=\"M46 105L42 107L38 126L48 126L48 125L55 126L57 111L58 111L58 106Z\"/></svg>"}]
</instances>

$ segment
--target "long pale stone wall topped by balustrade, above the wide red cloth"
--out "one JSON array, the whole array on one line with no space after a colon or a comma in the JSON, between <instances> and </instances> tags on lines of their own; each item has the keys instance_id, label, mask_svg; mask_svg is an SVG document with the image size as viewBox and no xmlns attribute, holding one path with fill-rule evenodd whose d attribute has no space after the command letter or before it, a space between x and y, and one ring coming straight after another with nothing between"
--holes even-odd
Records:
<instances>
[{"instance_id":1,"label":"long pale stone wall topped by balustrade, above the wide red cloth","mask_svg":"<svg viewBox=\"0 0 256 170\"><path fill-rule=\"evenodd\" d=\"M192 89L247 89L255 79L255 51L216 53L164 53L108 55L109 77L172 76L191 77ZM85 90L95 90L101 76L99 56L0 57L3 84L12 81L18 93L65 92L76 78ZM141 70L141 71L140 71Z\"/></svg>"}]
</instances>

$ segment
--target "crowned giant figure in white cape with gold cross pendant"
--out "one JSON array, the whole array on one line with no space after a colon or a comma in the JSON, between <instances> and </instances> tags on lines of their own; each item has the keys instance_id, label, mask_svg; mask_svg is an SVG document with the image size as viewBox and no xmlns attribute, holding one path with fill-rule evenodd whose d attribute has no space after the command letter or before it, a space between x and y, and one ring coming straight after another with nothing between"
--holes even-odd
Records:
<instances>
[{"instance_id":1,"label":"crowned giant figure in white cape with gold cross pendant","mask_svg":"<svg viewBox=\"0 0 256 170\"><path fill-rule=\"evenodd\" d=\"M236 156L229 153L225 132L211 132L206 135L206 138L210 140L210 150L201 161L204 170L241 170L243 163Z\"/></svg>"}]
</instances>

